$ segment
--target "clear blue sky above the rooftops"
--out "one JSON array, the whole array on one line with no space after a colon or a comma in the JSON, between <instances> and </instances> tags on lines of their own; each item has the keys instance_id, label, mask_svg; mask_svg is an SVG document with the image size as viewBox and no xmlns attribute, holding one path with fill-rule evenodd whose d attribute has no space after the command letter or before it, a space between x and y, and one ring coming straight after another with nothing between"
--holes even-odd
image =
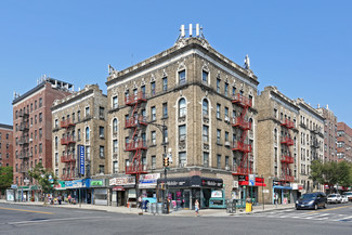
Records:
<instances>
[{"instance_id":1,"label":"clear blue sky above the rooftops","mask_svg":"<svg viewBox=\"0 0 352 235\"><path fill-rule=\"evenodd\" d=\"M251 69L263 90L329 108L352 127L352 1L1 1L0 123L12 125L13 92L47 74L99 83L173 45L199 23L210 44Z\"/></svg>"}]
</instances>

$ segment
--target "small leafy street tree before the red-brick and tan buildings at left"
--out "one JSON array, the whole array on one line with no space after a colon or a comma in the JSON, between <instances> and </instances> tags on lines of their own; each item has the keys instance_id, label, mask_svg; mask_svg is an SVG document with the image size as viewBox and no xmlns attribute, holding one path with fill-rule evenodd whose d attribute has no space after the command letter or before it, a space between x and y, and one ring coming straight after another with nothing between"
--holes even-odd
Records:
<instances>
[{"instance_id":1,"label":"small leafy street tree before the red-brick and tan buildings at left","mask_svg":"<svg viewBox=\"0 0 352 235\"><path fill-rule=\"evenodd\" d=\"M29 177L37 181L45 194L52 193L54 191L53 185L58 183L57 178L50 170L43 168L41 162L39 162L31 171L28 171L28 173Z\"/></svg>"}]
</instances>

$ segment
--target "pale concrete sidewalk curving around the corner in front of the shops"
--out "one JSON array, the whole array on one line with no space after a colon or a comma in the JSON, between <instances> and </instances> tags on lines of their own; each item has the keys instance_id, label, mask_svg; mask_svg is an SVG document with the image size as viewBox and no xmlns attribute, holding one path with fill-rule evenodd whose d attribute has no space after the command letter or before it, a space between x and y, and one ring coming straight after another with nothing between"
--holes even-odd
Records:
<instances>
[{"instance_id":1,"label":"pale concrete sidewalk curving around the corner in front of the shops","mask_svg":"<svg viewBox=\"0 0 352 235\"><path fill-rule=\"evenodd\" d=\"M42 201L28 201L28 203L12 203L0 199L2 204L15 204L15 205L26 205L26 206L43 206ZM48 205L48 207L60 207L60 208L70 208L70 209L84 209L84 210L101 210L107 212L115 212L115 213L128 213L128 214L140 214L142 212L141 209L136 208L127 208L127 207L112 207L112 206L96 206L96 205L89 205L89 204L62 204L62 205ZM295 204L288 205L263 205L255 206L251 212L246 212L245 209L237 209L236 213L227 213L225 209L204 209L199 210L201 217L231 217L235 214L246 214L246 213L259 213L263 211L272 211L272 210L285 210L285 209L292 209L295 208ZM153 216L153 213L145 212L143 210L144 216ZM166 217L194 217L194 210L179 210L179 211L171 211L169 214L156 214L156 216L166 216Z\"/></svg>"}]
</instances>

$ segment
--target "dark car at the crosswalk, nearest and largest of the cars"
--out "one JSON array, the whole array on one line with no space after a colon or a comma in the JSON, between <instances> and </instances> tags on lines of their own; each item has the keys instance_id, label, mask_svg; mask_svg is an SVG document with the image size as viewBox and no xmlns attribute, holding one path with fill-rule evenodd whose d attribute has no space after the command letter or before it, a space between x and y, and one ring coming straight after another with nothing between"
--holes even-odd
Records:
<instances>
[{"instance_id":1,"label":"dark car at the crosswalk, nearest and largest of the cars","mask_svg":"<svg viewBox=\"0 0 352 235\"><path fill-rule=\"evenodd\" d=\"M296 210L300 209L314 209L317 208L326 208L326 195L324 193L310 193L303 194L297 201L296 201Z\"/></svg>"}]
</instances>

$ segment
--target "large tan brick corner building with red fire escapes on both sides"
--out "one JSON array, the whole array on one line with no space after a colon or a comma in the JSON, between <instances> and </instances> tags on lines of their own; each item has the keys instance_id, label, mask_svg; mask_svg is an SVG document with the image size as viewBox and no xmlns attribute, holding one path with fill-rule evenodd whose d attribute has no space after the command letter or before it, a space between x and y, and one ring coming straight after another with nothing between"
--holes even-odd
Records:
<instances>
[{"instance_id":1,"label":"large tan brick corner building with red fire escapes on both sides","mask_svg":"<svg viewBox=\"0 0 352 235\"><path fill-rule=\"evenodd\" d=\"M153 57L121 71L110 68L112 203L135 200L133 178L139 174L143 190L136 193L160 197L156 182L145 186L143 179L161 174L164 183L165 152L172 156L168 196L179 206L190 208L200 198L201 207L208 207L211 190L223 185L226 198L245 198L248 174L257 172L258 83L249 62L246 68L238 66L198 36L181 35L174 47Z\"/></svg>"}]
</instances>

